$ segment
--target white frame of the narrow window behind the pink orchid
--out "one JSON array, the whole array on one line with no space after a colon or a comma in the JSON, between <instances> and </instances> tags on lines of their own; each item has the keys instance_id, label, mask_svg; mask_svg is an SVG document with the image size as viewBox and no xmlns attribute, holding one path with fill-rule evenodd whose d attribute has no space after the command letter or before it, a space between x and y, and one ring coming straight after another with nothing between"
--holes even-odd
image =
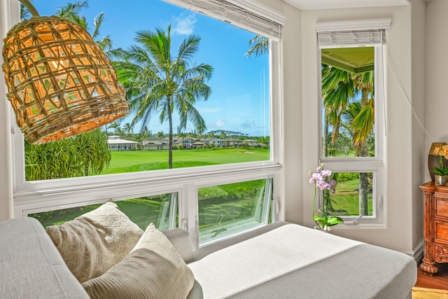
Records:
<instances>
[{"instance_id":1,"label":"white frame of the narrow window behind the pink orchid","mask_svg":"<svg viewBox=\"0 0 448 299\"><path fill-rule=\"evenodd\" d=\"M391 25L391 19L375 19L375 20L351 20L337 22L319 22L316 24L316 32L353 32L357 30L368 29L388 29ZM359 228L373 227L384 228L386 225L384 200L386 194L386 168L384 162L385 149L385 85L384 85L384 46L368 45L360 43L358 46L374 47L374 88L375 88L375 156L374 157L323 157L322 133L323 133L323 116L319 109L318 117L318 151L321 156L321 162L325 165L325 169L332 172L363 172L373 173L373 193L374 198L372 206L372 216L341 216L344 219L344 225L338 225L338 228L353 228L358 225ZM337 46L318 46L318 69L321 69L321 49L323 48L353 48L356 45L346 44ZM322 98L322 72L318 71L318 102L319 107L323 105Z\"/></svg>"}]
</instances>

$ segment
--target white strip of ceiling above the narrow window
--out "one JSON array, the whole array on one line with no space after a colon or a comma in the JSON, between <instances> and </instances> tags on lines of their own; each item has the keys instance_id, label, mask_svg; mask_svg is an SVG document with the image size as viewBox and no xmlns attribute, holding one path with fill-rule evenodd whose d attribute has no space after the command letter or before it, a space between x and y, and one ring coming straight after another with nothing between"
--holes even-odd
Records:
<instances>
[{"instance_id":1,"label":"white strip of ceiling above the narrow window","mask_svg":"<svg viewBox=\"0 0 448 299\"><path fill-rule=\"evenodd\" d=\"M358 8L409 5L407 0L283 0L302 11L313 9ZM426 2L428 0L425 0Z\"/></svg>"}]
</instances>

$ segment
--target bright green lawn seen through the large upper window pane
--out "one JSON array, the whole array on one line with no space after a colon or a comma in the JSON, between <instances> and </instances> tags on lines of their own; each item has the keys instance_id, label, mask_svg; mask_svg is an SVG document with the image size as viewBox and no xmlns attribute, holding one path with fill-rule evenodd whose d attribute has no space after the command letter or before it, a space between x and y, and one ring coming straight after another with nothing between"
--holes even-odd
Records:
<instances>
[{"instance_id":1,"label":"bright green lawn seen through the large upper window pane","mask_svg":"<svg viewBox=\"0 0 448 299\"><path fill-rule=\"evenodd\" d=\"M173 167L195 167L269 160L269 148L223 148L173 151ZM102 174L168 169L168 151L112 151Z\"/></svg>"}]
</instances>

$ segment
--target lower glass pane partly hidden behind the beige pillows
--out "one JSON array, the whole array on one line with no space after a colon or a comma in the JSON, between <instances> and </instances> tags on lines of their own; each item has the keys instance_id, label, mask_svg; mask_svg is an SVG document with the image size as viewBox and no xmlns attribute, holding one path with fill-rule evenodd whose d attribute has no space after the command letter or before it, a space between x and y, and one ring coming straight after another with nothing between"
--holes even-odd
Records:
<instances>
[{"instance_id":1,"label":"lower glass pane partly hidden behind the beige pillows","mask_svg":"<svg viewBox=\"0 0 448 299\"><path fill-rule=\"evenodd\" d=\"M147 197L137 197L115 202L132 222L145 230L150 223L154 223L159 230L168 230L179 226L177 193L167 193ZM58 225L96 209L101 204L90 204L84 207L73 207L54 211L28 214L36 218L44 227Z\"/></svg>"}]
</instances>

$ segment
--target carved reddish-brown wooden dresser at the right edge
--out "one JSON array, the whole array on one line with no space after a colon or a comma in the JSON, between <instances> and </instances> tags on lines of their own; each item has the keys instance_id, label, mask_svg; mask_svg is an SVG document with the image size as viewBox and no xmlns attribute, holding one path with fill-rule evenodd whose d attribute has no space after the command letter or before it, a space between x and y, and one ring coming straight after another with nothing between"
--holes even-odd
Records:
<instances>
[{"instance_id":1,"label":"carved reddish-brown wooden dresser at the right edge","mask_svg":"<svg viewBox=\"0 0 448 299\"><path fill-rule=\"evenodd\" d=\"M433 275L439 270L436 263L448 263L448 186L437 186L430 181L420 188L425 193L425 253L420 267Z\"/></svg>"}]
</instances>

